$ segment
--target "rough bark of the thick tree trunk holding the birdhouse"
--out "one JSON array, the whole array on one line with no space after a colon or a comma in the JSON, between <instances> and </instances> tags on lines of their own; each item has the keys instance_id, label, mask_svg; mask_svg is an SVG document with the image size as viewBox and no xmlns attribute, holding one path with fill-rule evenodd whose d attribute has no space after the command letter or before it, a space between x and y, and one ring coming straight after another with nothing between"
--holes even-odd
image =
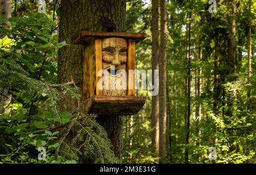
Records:
<instances>
[{"instance_id":1,"label":"rough bark of the thick tree trunk holding the birdhouse","mask_svg":"<svg viewBox=\"0 0 256 175\"><path fill-rule=\"evenodd\" d=\"M86 31L123 32L125 29L125 0L62 0L59 41L67 41L69 46L59 50L58 82L74 82L82 89L82 45L72 45L72 36L81 29ZM82 92L81 92L82 93ZM63 109L72 110L76 104L67 99ZM100 116L100 123L108 132L114 145L115 155L121 159L122 118Z\"/></svg>"}]
</instances>

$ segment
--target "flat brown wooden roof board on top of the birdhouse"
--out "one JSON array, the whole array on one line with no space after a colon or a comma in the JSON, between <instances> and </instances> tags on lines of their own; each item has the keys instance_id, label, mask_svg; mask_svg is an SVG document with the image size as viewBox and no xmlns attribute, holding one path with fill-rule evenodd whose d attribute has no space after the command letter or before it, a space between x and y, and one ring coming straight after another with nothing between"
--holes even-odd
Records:
<instances>
[{"instance_id":1,"label":"flat brown wooden roof board on top of the birdhouse","mask_svg":"<svg viewBox=\"0 0 256 175\"><path fill-rule=\"evenodd\" d=\"M130 33L130 32L90 32L80 31L77 32L72 39L73 44L89 44L93 39L104 39L107 37L120 37L122 39L131 39L135 42L140 42L146 39L146 33Z\"/></svg>"}]
</instances>

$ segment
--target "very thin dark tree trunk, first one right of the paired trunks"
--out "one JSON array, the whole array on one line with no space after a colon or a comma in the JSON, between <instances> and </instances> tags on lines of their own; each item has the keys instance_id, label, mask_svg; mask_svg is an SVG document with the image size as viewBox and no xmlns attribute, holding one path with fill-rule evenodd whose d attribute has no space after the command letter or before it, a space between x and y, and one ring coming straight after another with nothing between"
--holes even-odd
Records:
<instances>
[{"instance_id":1,"label":"very thin dark tree trunk, first one right of the paired trunks","mask_svg":"<svg viewBox=\"0 0 256 175\"><path fill-rule=\"evenodd\" d=\"M189 20L191 19L191 1L189 1ZM188 50L187 50L187 135L186 135L186 148L185 148L185 163L188 163L188 143L189 143L189 123L191 116L191 58L190 58L190 49L191 49L191 22L188 24Z\"/></svg>"}]
</instances>

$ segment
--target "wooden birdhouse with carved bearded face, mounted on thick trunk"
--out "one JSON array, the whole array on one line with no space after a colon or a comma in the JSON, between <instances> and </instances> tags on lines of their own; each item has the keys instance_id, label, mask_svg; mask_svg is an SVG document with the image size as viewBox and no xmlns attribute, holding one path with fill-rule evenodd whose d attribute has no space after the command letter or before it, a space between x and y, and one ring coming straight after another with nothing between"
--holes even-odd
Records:
<instances>
[{"instance_id":1,"label":"wooden birdhouse with carved bearded face, mounted on thick trunk","mask_svg":"<svg viewBox=\"0 0 256 175\"><path fill-rule=\"evenodd\" d=\"M136 114L145 97L135 96L135 45L146 33L88 32L73 36L73 44L84 45L84 112Z\"/></svg>"}]
</instances>

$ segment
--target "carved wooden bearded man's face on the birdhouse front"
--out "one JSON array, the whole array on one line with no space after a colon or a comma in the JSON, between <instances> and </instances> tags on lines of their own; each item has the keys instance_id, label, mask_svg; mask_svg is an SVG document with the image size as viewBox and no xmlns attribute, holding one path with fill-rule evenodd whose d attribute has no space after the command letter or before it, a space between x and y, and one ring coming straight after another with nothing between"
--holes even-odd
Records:
<instances>
[{"instance_id":1,"label":"carved wooden bearded man's face on the birdhouse front","mask_svg":"<svg viewBox=\"0 0 256 175\"><path fill-rule=\"evenodd\" d=\"M118 70L126 71L127 64L127 41L119 38L108 38L102 40L102 69L107 70L108 79L104 79L105 85L113 88L104 88L103 95L126 96L126 75L117 74ZM110 68L114 70L110 71ZM112 72L112 74L110 73ZM114 74L113 74L114 72ZM111 80L110 80L111 78ZM114 82L113 82L114 81Z\"/></svg>"}]
</instances>

